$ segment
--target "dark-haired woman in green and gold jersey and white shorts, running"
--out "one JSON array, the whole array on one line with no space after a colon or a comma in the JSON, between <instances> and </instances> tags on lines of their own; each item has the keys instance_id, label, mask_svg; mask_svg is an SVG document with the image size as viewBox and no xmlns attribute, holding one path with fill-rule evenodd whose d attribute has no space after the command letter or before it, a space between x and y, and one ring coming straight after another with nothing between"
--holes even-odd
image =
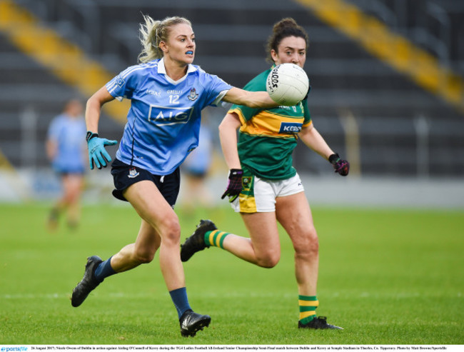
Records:
<instances>
[{"instance_id":1,"label":"dark-haired woman in green and gold jersey and white shorts, running","mask_svg":"<svg viewBox=\"0 0 464 352\"><path fill-rule=\"evenodd\" d=\"M292 63L303 68L307 49L308 35L296 21L283 19L273 26L273 34L268 39L268 59L273 65ZM270 71L256 76L244 89L266 91ZM288 132L285 126L297 126L299 132ZM240 129L238 141L237 129ZM234 105L219 126L219 135L230 169L228 187L222 198L230 197L233 209L241 213L250 238L219 231L213 222L202 220L182 245L182 261L188 261L206 247L217 246L245 261L272 268L281 256L279 222L295 249L300 306L298 328L341 329L327 323L326 317L316 316L318 236L291 154L299 138L330 161L342 176L348 175L348 161L335 154L313 126L307 99L296 106L275 109Z\"/></svg>"}]
</instances>

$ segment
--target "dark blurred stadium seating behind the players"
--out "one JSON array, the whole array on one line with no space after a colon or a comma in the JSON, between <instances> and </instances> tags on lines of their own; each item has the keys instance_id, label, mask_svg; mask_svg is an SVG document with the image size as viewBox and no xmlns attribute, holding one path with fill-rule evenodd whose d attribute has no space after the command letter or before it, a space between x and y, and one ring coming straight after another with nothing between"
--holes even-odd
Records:
<instances>
[{"instance_id":1,"label":"dark blurred stadium seating behind the players","mask_svg":"<svg viewBox=\"0 0 464 352\"><path fill-rule=\"evenodd\" d=\"M350 1L365 16L380 19L393 33L428 51L462 77L464 46L459 39L463 27L459 24L464 6L455 4L459 1L440 1L437 9L433 7L436 1L430 0L422 1L417 9L413 2ZM332 28L306 8L305 1L14 3L113 74L136 64L141 14L159 19L186 16L197 37L195 64L235 86L243 86L268 67L265 42L271 26L291 16L310 36L306 71L313 88L309 101L314 124L334 150L359 160L360 174L464 175L463 111ZM34 149L34 166L46 166L43 141L50 119L66 99L76 95L86 99L86 94L21 52L4 33L0 33L0 53L0 151L14 166L25 166L31 160L24 155L27 149L22 156L15 152L21 149L29 121L29 126L36 126L36 147L29 147ZM118 139L121 122L110 115L102 119L101 130L108 138ZM303 146L298 146L295 162L300 171L326 173L321 168L324 161Z\"/></svg>"}]
</instances>

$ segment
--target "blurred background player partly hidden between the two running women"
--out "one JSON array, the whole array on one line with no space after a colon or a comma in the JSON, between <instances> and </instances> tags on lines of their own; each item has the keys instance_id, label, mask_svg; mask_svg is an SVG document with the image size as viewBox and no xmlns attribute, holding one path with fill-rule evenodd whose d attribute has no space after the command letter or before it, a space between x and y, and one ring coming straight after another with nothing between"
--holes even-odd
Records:
<instances>
[{"instance_id":1,"label":"blurred background player partly hidden between the two running women","mask_svg":"<svg viewBox=\"0 0 464 352\"><path fill-rule=\"evenodd\" d=\"M208 125L208 115L203 111L198 147L183 162L181 171L185 176L183 206L189 213L198 205L210 207L211 194L206 178L213 161L213 135Z\"/></svg>"}]
</instances>

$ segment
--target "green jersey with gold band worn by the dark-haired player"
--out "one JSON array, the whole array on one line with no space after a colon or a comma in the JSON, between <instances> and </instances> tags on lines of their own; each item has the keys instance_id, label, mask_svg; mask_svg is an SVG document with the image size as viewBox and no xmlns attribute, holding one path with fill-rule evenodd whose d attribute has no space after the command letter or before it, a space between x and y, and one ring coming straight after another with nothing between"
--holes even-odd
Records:
<instances>
[{"instance_id":1,"label":"green jersey with gold band worn by the dark-haired player","mask_svg":"<svg viewBox=\"0 0 464 352\"><path fill-rule=\"evenodd\" d=\"M248 82L246 91L266 91L266 79L271 69ZM252 109L233 105L228 111L241 121L238 134L238 156L244 170L258 177L283 180L295 176L292 153L298 132L311 125L306 99L295 106L273 109Z\"/></svg>"}]
</instances>

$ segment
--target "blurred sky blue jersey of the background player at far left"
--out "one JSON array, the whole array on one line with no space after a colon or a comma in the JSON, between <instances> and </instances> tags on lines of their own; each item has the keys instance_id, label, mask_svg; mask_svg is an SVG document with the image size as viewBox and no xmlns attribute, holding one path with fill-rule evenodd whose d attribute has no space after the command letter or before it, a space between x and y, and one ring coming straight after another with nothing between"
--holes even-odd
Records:
<instances>
[{"instance_id":1,"label":"blurred sky blue jersey of the background player at far left","mask_svg":"<svg viewBox=\"0 0 464 352\"><path fill-rule=\"evenodd\" d=\"M70 174L85 171L86 131L83 117L73 119L60 114L51 121L48 139L56 142L56 156L52 161L56 171Z\"/></svg>"}]
</instances>

